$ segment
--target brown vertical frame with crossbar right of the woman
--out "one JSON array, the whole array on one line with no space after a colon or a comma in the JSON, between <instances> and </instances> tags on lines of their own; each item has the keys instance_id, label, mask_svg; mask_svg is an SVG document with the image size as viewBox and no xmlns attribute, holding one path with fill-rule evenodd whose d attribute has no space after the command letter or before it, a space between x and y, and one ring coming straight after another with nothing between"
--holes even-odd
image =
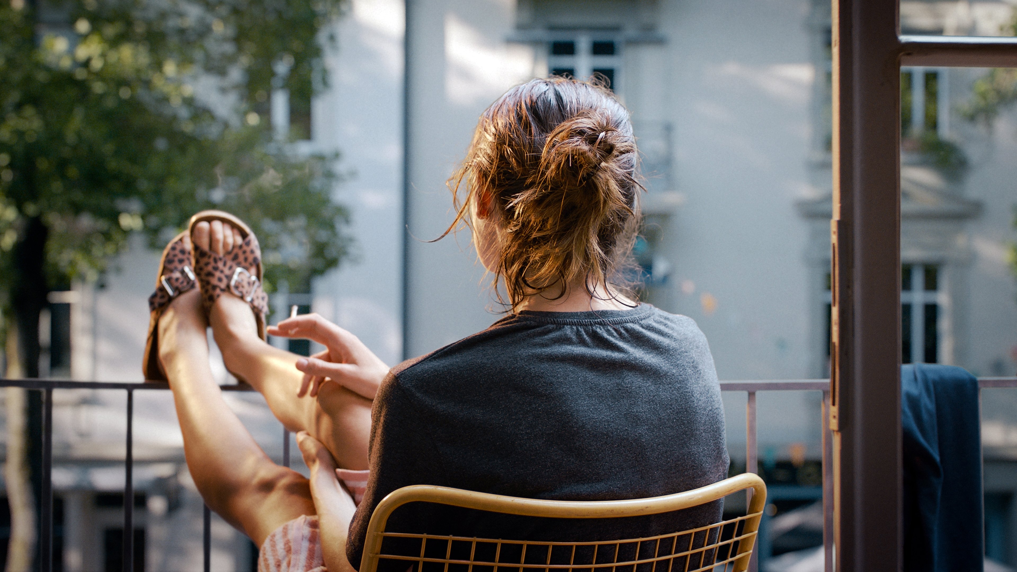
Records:
<instances>
[{"instance_id":1,"label":"brown vertical frame with crossbar right of the woman","mask_svg":"<svg viewBox=\"0 0 1017 572\"><path fill-rule=\"evenodd\" d=\"M900 70L1017 67L1017 38L901 36L900 4L832 0L831 407L836 569L903 563ZM894 105L888 105L894 102Z\"/></svg>"}]
</instances>

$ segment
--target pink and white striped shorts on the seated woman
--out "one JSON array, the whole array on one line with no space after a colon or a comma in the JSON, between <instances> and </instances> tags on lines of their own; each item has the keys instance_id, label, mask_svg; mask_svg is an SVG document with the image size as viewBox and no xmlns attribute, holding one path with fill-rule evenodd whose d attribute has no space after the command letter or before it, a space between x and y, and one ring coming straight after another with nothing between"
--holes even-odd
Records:
<instances>
[{"instance_id":1,"label":"pink and white striped shorts on the seated woman","mask_svg":"<svg viewBox=\"0 0 1017 572\"><path fill-rule=\"evenodd\" d=\"M353 502L360 504L367 488L366 470L336 469L336 476L343 480L353 495ZM317 516L299 516L268 534L261 545L257 558L258 572L327 572L321 558L321 534Z\"/></svg>"}]
</instances>

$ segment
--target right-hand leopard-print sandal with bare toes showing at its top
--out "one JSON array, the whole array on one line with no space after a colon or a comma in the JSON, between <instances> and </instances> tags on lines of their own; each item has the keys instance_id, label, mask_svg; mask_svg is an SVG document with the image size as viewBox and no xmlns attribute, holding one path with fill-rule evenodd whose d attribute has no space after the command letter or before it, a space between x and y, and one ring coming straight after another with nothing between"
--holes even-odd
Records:
<instances>
[{"instance_id":1,"label":"right-hand leopard-print sandal with bare toes showing at its top","mask_svg":"<svg viewBox=\"0 0 1017 572\"><path fill-rule=\"evenodd\" d=\"M247 302L254 312L257 335L265 339L265 317L268 314L268 296L261 288L261 248L257 237L243 221L223 211L201 211L191 217L188 232L194 241L194 225L200 222L222 221L240 230L243 242L234 245L226 254L217 254L193 244L194 274L201 288L201 306L207 314L213 304L226 292Z\"/></svg>"}]
</instances>

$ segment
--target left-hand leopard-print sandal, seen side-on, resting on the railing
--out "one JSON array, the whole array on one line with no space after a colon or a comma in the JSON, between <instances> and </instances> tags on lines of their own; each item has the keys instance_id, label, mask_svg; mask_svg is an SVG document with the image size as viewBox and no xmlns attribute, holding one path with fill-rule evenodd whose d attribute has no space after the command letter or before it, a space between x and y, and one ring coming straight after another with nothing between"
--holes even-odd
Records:
<instances>
[{"instance_id":1,"label":"left-hand leopard-print sandal, seen side-on, resting on the railing","mask_svg":"<svg viewBox=\"0 0 1017 572\"><path fill-rule=\"evenodd\" d=\"M141 358L141 373L146 382L166 381L166 374L159 362L159 319L174 298L197 286L197 278L191 269L191 251L183 239L184 233L181 232L163 249L156 291L148 296L148 339Z\"/></svg>"}]
</instances>

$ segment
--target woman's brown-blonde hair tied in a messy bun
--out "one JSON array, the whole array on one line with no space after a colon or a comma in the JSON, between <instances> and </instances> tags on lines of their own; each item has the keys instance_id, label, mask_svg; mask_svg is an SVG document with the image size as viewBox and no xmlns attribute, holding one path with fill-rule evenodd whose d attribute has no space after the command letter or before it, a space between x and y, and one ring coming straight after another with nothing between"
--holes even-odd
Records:
<instances>
[{"instance_id":1,"label":"woman's brown-blonde hair tied in a messy bun","mask_svg":"<svg viewBox=\"0 0 1017 572\"><path fill-rule=\"evenodd\" d=\"M461 222L472 226L470 205L486 193L501 237L492 272L506 305L555 285L563 296L580 278L591 294L603 282L611 297L632 295L621 273L640 222L638 162L629 112L610 91L596 81L532 79L480 116L448 179L457 216L445 234Z\"/></svg>"}]
</instances>

